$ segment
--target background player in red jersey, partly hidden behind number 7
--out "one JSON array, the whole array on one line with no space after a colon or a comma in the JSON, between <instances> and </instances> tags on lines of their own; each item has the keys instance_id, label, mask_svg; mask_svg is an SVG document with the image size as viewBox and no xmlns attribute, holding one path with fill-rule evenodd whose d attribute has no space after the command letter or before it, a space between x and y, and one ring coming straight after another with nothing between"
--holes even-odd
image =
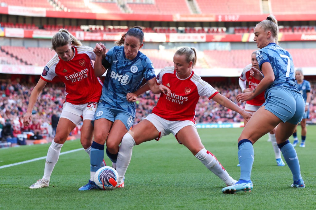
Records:
<instances>
[{"instance_id":1,"label":"background player in red jersey, partly hidden behind number 7","mask_svg":"<svg viewBox=\"0 0 316 210\"><path fill-rule=\"evenodd\" d=\"M251 64L247 65L244 70L242 71L240 77L239 77L239 85L243 93L251 92L254 90L257 85L259 84L260 80L254 78L250 75L250 69L251 67L259 68L258 67L258 61L256 58L256 51L251 54ZM248 82L248 88L246 87L246 82ZM245 110L247 112L255 112L258 110L258 108L265 102L264 99L264 91L260 93L258 96L254 97L253 99L246 101ZM244 124L246 126L247 120L244 120ZM274 150L274 154L276 157L276 165L277 166L285 166L282 157L281 157L281 151L276 143L276 136L275 136L276 128L274 128L272 131L269 132L269 138L272 143L272 147ZM237 166L240 166L238 164Z\"/></svg>"}]
</instances>

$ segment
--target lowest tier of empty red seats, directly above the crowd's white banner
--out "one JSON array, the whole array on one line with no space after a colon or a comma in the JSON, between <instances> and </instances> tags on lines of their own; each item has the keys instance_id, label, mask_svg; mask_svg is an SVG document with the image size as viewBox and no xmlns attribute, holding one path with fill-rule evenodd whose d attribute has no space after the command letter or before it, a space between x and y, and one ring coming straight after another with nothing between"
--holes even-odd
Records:
<instances>
[{"instance_id":1,"label":"lowest tier of empty red seats, directly above the crowd's white banner","mask_svg":"<svg viewBox=\"0 0 316 210\"><path fill-rule=\"evenodd\" d=\"M41 47L15 47L1 46L0 61L9 64L25 64L34 66L45 66L55 55L54 50ZM291 53L296 67L314 67L313 55L316 49L287 49ZM170 58L174 50L142 49L153 62L155 68L173 66ZM249 55L254 50L204 50L202 57L198 57L195 68L244 68L249 62Z\"/></svg>"}]
</instances>

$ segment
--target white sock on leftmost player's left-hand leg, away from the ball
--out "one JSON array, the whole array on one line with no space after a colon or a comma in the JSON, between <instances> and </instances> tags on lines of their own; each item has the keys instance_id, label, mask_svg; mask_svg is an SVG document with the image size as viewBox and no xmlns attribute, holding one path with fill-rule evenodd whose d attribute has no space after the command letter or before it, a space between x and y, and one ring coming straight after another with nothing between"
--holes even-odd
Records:
<instances>
[{"instance_id":1,"label":"white sock on leftmost player's left-hand leg, away from the ball","mask_svg":"<svg viewBox=\"0 0 316 210\"><path fill-rule=\"evenodd\" d=\"M64 144L55 143L53 139L51 146L48 148L43 176L44 180L49 181L49 179L51 178L53 169L59 158L60 149L63 145Z\"/></svg>"}]
</instances>

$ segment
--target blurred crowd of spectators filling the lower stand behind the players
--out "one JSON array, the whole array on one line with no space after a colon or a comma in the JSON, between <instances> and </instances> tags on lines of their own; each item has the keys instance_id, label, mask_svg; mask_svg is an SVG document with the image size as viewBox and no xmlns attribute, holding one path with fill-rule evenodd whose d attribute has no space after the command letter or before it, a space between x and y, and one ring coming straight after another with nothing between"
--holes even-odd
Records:
<instances>
[{"instance_id":1,"label":"blurred crowd of spectators filling the lower stand behind the players","mask_svg":"<svg viewBox=\"0 0 316 210\"><path fill-rule=\"evenodd\" d=\"M316 123L316 81L310 82L312 85L312 98L308 123ZM18 79L15 81L0 81L0 129L3 129L5 125L11 124L14 137L25 131L39 132L42 135L53 137L53 128L56 129L56 118L60 115L65 100L64 84L48 83L46 85L34 106L32 124L29 127L24 127L22 117L26 112L28 99L34 85L20 83ZM241 92L238 84L213 83L211 85L222 95L244 108L244 103L236 101L236 95ZM151 113L158 98L159 95L155 95L150 91L138 97L135 124ZM206 97L201 97L197 104L195 120L197 123L243 121L238 113L222 107ZM55 122L52 123L52 121ZM78 130L80 131L80 125Z\"/></svg>"}]
</instances>

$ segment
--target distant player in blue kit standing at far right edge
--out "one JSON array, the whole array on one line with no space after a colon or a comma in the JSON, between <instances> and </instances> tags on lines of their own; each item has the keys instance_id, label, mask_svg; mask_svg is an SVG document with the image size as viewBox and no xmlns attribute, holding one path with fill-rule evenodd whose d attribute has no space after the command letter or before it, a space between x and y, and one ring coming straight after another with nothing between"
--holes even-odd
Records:
<instances>
[{"instance_id":1,"label":"distant player in blue kit standing at far right edge","mask_svg":"<svg viewBox=\"0 0 316 210\"><path fill-rule=\"evenodd\" d=\"M306 133L307 133L307 128L306 128L306 120L309 118L309 103L311 102L311 84L304 79L304 75L301 69L297 69L295 71L295 82L298 90L301 92L304 101L305 101L305 113L303 115L303 119L301 121L301 139L302 142L300 144L300 147L305 147L305 140L306 140ZM297 134L296 134L296 129L293 133L293 147L296 147L296 144L299 143Z\"/></svg>"}]
</instances>

